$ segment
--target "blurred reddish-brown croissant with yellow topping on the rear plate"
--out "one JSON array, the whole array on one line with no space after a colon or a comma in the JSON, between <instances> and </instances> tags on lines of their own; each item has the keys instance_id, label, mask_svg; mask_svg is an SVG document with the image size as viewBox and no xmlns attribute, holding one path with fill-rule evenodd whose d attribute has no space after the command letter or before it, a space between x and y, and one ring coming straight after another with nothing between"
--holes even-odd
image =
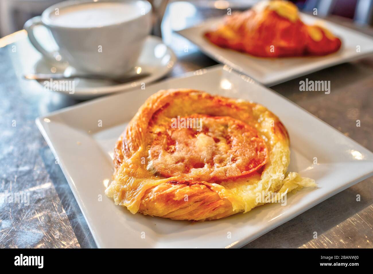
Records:
<instances>
[{"instance_id":1,"label":"blurred reddish-brown croissant with yellow topping on the rear plate","mask_svg":"<svg viewBox=\"0 0 373 274\"><path fill-rule=\"evenodd\" d=\"M326 55L341 47L341 40L327 29L303 23L297 6L286 0L261 1L227 15L205 36L220 47L258 57Z\"/></svg>"}]
</instances>

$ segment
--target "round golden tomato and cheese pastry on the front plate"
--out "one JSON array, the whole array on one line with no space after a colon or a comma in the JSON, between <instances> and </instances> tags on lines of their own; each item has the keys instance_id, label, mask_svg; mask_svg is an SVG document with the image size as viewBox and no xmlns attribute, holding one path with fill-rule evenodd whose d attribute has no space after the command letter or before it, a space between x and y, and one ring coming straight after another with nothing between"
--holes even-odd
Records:
<instances>
[{"instance_id":1,"label":"round golden tomato and cheese pastry on the front plate","mask_svg":"<svg viewBox=\"0 0 373 274\"><path fill-rule=\"evenodd\" d=\"M316 186L287 173L289 161L288 132L262 105L162 90L116 142L106 195L134 214L214 220L263 205L262 193Z\"/></svg>"}]
</instances>

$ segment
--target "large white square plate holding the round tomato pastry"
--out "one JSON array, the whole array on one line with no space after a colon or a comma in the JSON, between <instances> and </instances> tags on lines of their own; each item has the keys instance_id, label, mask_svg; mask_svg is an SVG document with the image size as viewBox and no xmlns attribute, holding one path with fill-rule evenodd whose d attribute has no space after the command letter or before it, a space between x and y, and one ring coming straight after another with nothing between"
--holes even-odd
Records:
<instances>
[{"instance_id":1,"label":"large white square plate holding the round tomato pastry","mask_svg":"<svg viewBox=\"0 0 373 274\"><path fill-rule=\"evenodd\" d=\"M114 205L104 194L104 184L113 174L114 144L140 105L154 92L168 88L200 89L265 105L289 131L289 171L315 179L319 188L289 195L286 206L266 204L246 214L195 223L133 215ZM102 127L98 127L99 120ZM100 248L239 247L373 174L372 152L291 101L222 65L146 86L145 90L68 107L36 122ZM318 165L313 164L314 157Z\"/></svg>"}]
</instances>

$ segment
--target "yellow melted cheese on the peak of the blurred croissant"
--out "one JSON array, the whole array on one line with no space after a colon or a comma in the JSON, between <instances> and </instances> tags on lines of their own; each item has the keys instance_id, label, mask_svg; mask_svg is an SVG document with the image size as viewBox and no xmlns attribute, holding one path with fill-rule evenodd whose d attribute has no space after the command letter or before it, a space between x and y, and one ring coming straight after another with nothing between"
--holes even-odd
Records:
<instances>
[{"instance_id":1,"label":"yellow melted cheese on the peak of the blurred croissant","mask_svg":"<svg viewBox=\"0 0 373 274\"><path fill-rule=\"evenodd\" d=\"M253 9L257 13L261 13L265 9L273 10L278 15L289 19L291 22L295 22L299 19L297 6L286 0L260 1Z\"/></svg>"}]
</instances>

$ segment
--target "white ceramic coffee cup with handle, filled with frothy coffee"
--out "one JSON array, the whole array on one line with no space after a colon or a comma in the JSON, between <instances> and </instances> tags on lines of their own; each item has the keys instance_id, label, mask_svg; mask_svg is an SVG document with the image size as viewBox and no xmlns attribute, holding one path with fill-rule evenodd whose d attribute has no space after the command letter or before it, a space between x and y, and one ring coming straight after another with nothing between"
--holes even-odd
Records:
<instances>
[{"instance_id":1,"label":"white ceramic coffee cup with handle, filled with frothy coffee","mask_svg":"<svg viewBox=\"0 0 373 274\"><path fill-rule=\"evenodd\" d=\"M44 49L34 28L50 29L58 51ZM24 26L34 47L47 59L77 70L120 75L141 53L151 29L151 4L145 0L68 0L44 10Z\"/></svg>"}]
</instances>

